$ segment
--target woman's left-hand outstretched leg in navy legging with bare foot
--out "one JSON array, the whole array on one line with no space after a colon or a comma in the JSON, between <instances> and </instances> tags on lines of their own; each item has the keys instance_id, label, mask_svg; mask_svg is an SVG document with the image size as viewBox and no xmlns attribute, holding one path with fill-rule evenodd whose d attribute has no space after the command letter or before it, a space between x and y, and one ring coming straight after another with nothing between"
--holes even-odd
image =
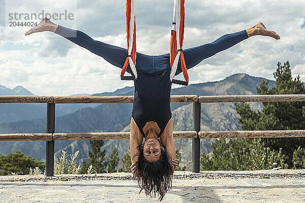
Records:
<instances>
[{"instance_id":1,"label":"woman's left-hand outstretched leg in navy legging with bare foot","mask_svg":"<svg viewBox=\"0 0 305 203\"><path fill-rule=\"evenodd\" d=\"M31 35L32 33L41 31L52 31L90 52L103 57L106 61L119 68L123 67L127 57L127 49L96 41L82 31L57 25L48 18L44 18L36 27L27 31L25 35Z\"/></svg>"}]
</instances>

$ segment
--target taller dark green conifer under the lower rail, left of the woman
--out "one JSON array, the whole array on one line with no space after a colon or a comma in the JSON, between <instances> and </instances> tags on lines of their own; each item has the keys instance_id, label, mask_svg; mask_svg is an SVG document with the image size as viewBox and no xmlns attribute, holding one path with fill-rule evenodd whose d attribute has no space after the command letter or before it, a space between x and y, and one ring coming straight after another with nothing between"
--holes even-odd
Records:
<instances>
[{"instance_id":1,"label":"taller dark green conifer under the lower rail, left of the woman","mask_svg":"<svg viewBox=\"0 0 305 203\"><path fill-rule=\"evenodd\" d=\"M93 166L93 170L99 173L106 173L107 161L105 160L105 150L101 150L104 144L102 140L90 140L90 146L93 152L88 151L90 162L89 165Z\"/></svg>"}]
</instances>

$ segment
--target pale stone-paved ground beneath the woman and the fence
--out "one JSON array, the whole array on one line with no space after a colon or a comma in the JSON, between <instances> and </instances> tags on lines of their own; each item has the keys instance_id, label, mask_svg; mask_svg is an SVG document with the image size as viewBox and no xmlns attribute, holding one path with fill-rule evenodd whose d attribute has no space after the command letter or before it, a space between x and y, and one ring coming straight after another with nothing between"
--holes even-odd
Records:
<instances>
[{"instance_id":1,"label":"pale stone-paved ground beneath the woman and the fence","mask_svg":"<svg viewBox=\"0 0 305 203\"><path fill-rule=\"evenodd\" d=\"M219 175L232 173L237 178L222 178ZM200 174L210 176L194 176ZM200 174L175 172L172 190L167 192L162 202L305 202L305 176L302 176L305 170L214 171ZM257 174L261 174L261 178L256 178ZM267 178L266 174L290 176ZM159 202L157 198L146 197L143 192L139 195L138 185L129 178L124 179L131 177L129 173L90 176L97 180L84 180L81 175L56 175L59 179L55 181L42 181L45 178L43 175L0 176L0 202ZM190 178L192 176L194 178ZM39 181L34 181L34 177Z\"/></svg>"}]
</instances>

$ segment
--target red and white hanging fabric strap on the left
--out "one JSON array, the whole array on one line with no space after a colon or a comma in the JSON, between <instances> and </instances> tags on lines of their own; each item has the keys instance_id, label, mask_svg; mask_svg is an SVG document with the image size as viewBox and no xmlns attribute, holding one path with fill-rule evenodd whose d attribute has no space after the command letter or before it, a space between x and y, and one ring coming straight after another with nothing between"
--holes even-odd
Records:
<instances>
[{"instance_id":1,"label":"red and white hanging fabric strap on the left","mask_svg":"<svg viewBox=\"0 0 305 203\"><path fill-rule=\"evenodd\" d=\"M128 56L125 60L121 71L121 77L124 76L128 64L135 75L138 77L136 71L136 17L135 17L135 0L126 0L126 27L127 27L127 51Z\"/></svg>"}]
</instances>

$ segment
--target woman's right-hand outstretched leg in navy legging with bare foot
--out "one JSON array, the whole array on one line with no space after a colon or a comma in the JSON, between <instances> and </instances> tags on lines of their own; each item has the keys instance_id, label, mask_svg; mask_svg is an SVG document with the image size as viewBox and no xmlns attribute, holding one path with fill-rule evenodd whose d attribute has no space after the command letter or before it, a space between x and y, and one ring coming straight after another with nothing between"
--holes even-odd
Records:
<instances>
[{"instance_id":1,"label":"woman's right-hand outstretched leg in navy legging with bare foot","mask_svg":"<svg viewBox=\"0 0 305 203\"><path fill-rule=\"evenodd\" d=\"M211 57L218 52L226 50L236 45L237 43L255 35L269 36L277 40L280 39L280 36L278 36L276 32L266 29L263 23L258 22L255 26L249 29L226 34L212 43L184 50L183 53L185 56L187 69L191 69L200 63L203 59ZM182 71L179 64L175 75L178 75L181 72Z\"/></svg>"}]
</instances>

